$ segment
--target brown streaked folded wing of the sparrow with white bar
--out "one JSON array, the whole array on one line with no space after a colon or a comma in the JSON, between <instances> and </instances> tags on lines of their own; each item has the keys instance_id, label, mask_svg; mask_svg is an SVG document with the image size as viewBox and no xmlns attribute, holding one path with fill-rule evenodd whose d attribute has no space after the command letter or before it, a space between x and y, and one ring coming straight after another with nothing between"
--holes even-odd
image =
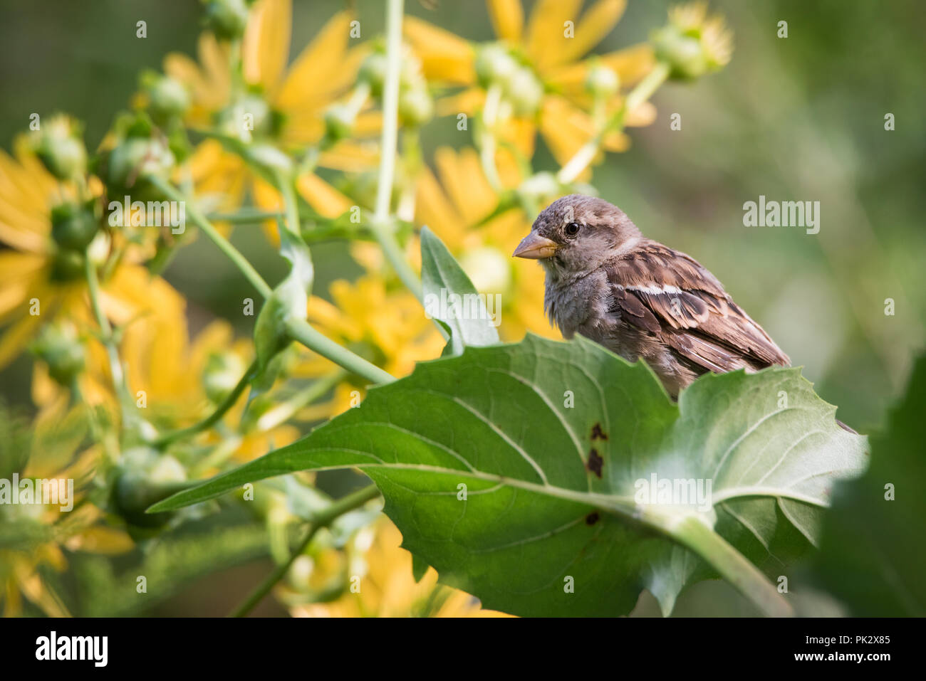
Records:
<instances>
[{"instance_id":1,"label":"brown streaked folded wing of the sparrow with white bar","mask_svg":"<svg viewBox=\"0 0 926 681\"><path fill-rule=\"evenodd\" d=\"M720 281L688 255L644 242L607 265L612 310L715 371L788 365L788 356L733 303Z\"/></svg>"}]
</instances>

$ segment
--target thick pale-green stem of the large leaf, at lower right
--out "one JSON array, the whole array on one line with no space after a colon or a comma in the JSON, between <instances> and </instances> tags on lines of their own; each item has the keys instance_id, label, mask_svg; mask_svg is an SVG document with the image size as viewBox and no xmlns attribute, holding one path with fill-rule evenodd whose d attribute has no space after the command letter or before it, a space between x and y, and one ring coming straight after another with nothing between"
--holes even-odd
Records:
<instances>
[{"instance_id":1,"label":"thick pale-green stem of the large leaf, at lower right","mask_svg":"<svg viewBox=\"0 0 926 681\"><path fill-rule=\"evenodd\" d=\"M745 556L736 551L717 532L694 516L667 526L656 523L670 537L700 555L747 599L770 617L793 617L795 612L782 594Z\"/></svg>"}]
</instances>

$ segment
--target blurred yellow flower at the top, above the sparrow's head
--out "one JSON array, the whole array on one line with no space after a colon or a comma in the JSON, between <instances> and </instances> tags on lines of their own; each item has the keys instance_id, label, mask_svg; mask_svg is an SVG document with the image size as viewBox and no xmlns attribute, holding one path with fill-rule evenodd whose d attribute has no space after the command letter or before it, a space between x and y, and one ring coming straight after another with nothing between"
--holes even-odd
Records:
<instances>
[{"instance_id":1,"label":"blurred yellow flower at the top, above the sparrow's head","mask_svg":"<svg viewBox=\"0 0 926 681\"><path fill-rule=\"evenodd\" d=\"M582 0L539 0L524 27L520 0L487 0L495 34L504 50L493 45L483 46L482 56L504 64L494 66L510 70L509 82L519 91L529 92L530 80L536 79L543 93L533 115L514 116L499 124L499 136L513 143L521 154L533 153L534 132L539 128L544 141L564 164L582 144L594 135L594 121L583 108L588 108L591 96L584 84L595 63L611 68L619 77L621 87L632 85L653 68L653 51L647 44L582 59L614 28L623 14L626 0L598 0L580 17ZM471 114L486 103L486 92L478 84L477 50L467 41L420 19L408 17L406 34L421 59L429 80L466 89L438 105L443 115ZM504 53L504 54L503 54ZM519 66L518 59L524 62ZM489 68L493 68L489 64ZM524 70L524 69L527 70ZM485 83L482 83L483 85ZM515 95L518 99L518 94ZM616 110L622 100L615 96L607 103ZM517 113L517 112L516 112ZM655 108L644 103L628 113L626 125L649 125L656 118ZM608 151L624 151L629 145L622 133L608 135L603 146Z\"/></svg>"}]
</instances>

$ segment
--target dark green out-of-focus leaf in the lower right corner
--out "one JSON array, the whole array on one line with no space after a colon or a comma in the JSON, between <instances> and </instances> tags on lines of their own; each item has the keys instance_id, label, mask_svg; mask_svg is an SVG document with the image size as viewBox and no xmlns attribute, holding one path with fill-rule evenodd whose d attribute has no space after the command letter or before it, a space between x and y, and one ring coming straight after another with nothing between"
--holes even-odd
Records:
<instances>
[{"instance_id":1,"label":"dark green out-of-focus leaf in the lower right corner","mask_svg":"<svg viewBox=\"0 0 926 681\"><path fill-rule=\"evenodd\" d=\"M838 484L826 514L816 573L863 617L926 616L926 355L907 396L872 438L863 477Z\"/></svg>"}]
</instances>

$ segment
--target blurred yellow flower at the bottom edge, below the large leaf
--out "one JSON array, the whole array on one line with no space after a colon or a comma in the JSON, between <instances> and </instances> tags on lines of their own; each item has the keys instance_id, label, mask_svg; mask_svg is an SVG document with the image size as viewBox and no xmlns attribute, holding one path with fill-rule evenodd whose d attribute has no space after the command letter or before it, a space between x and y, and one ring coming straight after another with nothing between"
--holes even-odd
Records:
<instances>
[{"instance_id":1,"label":"blurred yellow flower at the bottom edge, below the large leaf","mask_svg":"<svg viewBox=\"0 0 926 681\"><path fill-rule=\"evenodd\" d=\"M351 576L359 576L358 592L348 590L336 601L295 605L296 617L507 617L482 610L479 601L456 588L439 586L428 568L416 582L411 553L401 547L402 535L383 518L361 530L355 546L361 551L351 562ZM369 549L362 551L369 544ZM336 563L331 559L324 565Z\"/></svg>"}]
</instances>

